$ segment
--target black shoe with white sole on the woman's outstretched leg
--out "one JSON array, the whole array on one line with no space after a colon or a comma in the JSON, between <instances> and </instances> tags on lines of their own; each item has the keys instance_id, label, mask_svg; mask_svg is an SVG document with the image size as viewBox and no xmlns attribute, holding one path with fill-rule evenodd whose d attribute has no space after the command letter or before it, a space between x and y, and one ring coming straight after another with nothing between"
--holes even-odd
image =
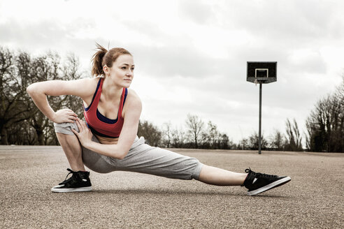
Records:
<instances>
[{"instance_id":1,"label":"black shoe with white sole on the woman's outstretched leg","mask_svg":"<svg viewBox=\"0 0 344 229\"><path fill-rule=\"evenodd\" d=\"M257 195L269 189L281 186L290 182L290 177L279 177L276 175L267 175L264 173L253 172L250 168L246 169L248 177L242 186L248 189L248 195Z\"/></svg>"}]
</instances>

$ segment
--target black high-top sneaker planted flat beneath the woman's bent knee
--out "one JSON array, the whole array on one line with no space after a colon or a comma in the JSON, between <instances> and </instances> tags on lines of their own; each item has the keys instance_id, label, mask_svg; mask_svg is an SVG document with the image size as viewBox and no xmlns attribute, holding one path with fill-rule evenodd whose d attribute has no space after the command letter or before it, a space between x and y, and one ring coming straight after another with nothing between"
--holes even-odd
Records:
<instances>
[{"instance_id":1,"label":"black high-top sneaker planted flat beneath the woman's bent knee","mask_svg":"<svg viewBox=\"0 0 344 229\"><path fill-rule=\"evenodd\" d=\"M72 176L67 179L64 179L63 182L51 189L54 193L68 193L71 191L92 191L92 184L89 179L89 172L78 171L74 172L73 170L67 168L69 174Z\"/></svg>"}]
</instances>

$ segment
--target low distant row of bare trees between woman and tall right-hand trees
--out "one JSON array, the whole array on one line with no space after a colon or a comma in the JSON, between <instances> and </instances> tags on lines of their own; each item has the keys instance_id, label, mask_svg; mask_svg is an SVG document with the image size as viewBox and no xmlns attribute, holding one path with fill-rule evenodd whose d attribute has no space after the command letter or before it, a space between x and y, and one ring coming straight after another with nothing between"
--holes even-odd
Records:
<instances>
[{"instance_id":1,"label":"low distant row of bare trees between woman and tall right-hand trees","mask_svg":"<svg viewBox=\"0 0 344 229\"><path fill-rule=\"evenodd\" d=\"M286 130L287 135L277 130L267 138L263 134L261 149L303 151L302 137L295 119L294 122L287 119ZM184 128L173 128L171 123L164 123L162 128L159 128L149 121L140 121L138 135L145 137L145 140L155 147L257 150L259 146L257 132L234 143L227 134L218 131L217 125L212 121L205 124L200 117L192 114L187 115Z\"/></svg>"}]
</instances>

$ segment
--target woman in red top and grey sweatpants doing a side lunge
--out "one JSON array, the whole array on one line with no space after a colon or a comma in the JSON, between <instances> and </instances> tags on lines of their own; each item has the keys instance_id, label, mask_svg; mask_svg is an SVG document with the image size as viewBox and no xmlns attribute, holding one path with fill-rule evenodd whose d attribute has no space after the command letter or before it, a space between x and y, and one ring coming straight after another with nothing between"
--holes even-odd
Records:
<instances>
[{"instance_id":1,"label":"woman in red top and grey sweatpants doing a side lunge","mask_svg":"<svg viewBox=\"0 0 344 229\"><path fill-rule=\"evenodd\" d=\"M123 48L106 50L97 44L92 79L36 82L27 88L38 109L54 122L72 176L53 192L91 191L89 172L143 172L175 179L197 179L220 186L241 185L256 195L290 181L253 172L236 173L203 165L196 158L145 144L138 138L141 100L128 89L134 78L134 59ZM86 123L69 109L55 112L46 96L74 95L83 99ZM68 176L68 175L67 175Z\"/></svg>"}]
</instances>

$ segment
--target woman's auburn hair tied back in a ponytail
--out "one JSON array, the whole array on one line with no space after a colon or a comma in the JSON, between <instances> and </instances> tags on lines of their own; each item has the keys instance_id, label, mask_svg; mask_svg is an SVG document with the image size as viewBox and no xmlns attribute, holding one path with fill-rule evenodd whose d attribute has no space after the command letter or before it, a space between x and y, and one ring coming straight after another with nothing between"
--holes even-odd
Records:
<instances>
[{"instance_id":1,"label":"woman's auburn hair tied back in a ponytail","mask_svg":"<svg viewBox=\"0 0 344 229\"><path fill-rule=\"evenodd\" d=\"M92 75L104 75L103 66L108 66L111 68L113 66L113 62L116 61L120 55L129 54L131 53L128 50L125 50L122 47L113 47L110 50L106 50L105 47L96 43L96 53L92 56ZM132 55L131 55L132 56Z\"/></svg>"}]
</instances>

